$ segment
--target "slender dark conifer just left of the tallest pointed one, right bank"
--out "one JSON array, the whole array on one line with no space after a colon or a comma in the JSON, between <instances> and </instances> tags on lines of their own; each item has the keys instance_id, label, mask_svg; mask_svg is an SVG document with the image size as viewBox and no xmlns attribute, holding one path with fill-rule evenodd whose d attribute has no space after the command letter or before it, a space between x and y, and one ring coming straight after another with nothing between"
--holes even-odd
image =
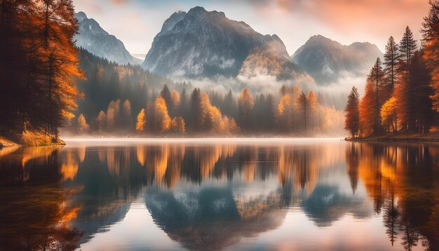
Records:
<instances>
[{"instance_id":1,"label":"slender dark conifer just left of the tallest pointed one, right bank","mask_svg":"<svg viewBox=\"0 0 439 251\"><path fill-rule=\"evenodd\" d=\"M398 44L396 44L393 36L389 37L386 44L386 52L384 53L384 95L383 100L388 100L393 94L393 88L397 81L397 70L398 70Z\"/></svg>"}]
</instances>

